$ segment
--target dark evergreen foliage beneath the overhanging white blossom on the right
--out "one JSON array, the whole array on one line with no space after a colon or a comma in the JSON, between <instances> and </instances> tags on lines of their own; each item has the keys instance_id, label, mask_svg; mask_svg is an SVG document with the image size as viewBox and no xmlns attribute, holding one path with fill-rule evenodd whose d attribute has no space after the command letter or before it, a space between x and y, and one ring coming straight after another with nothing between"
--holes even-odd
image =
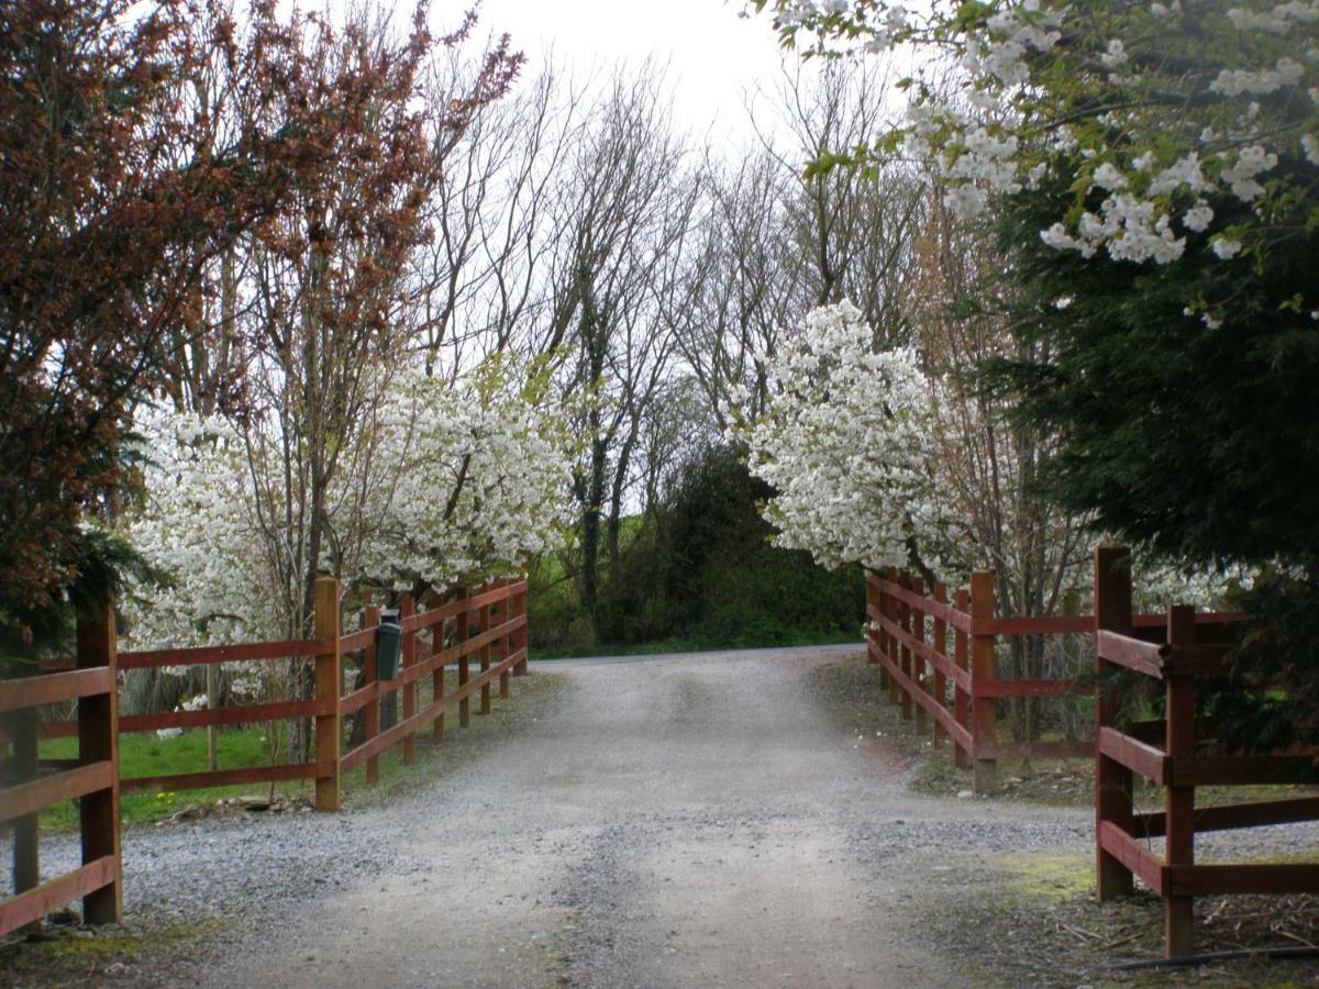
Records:
<instances>
[{"instance_id":1,"label":"dark evergreen foliage beneath the overhanging white blossom on the right","mask_svg":"<svg viewBox=\"0 0 1319 989\"><path fill-rule=\"evenodd\" d=\"M1072 196L1005 203L1006 309L1029 357L989 367L988 381L1059 438L1041 483L1099 533L1188 568L1256 574L1237 603L1253 616L1237 673L1204 705L1242 744L1316 738L1319 326L1294 299L1319 281L1319 235L1279 241L1248 280L1195 241L1162 266L1083 258L1038 236Z\"/></svg>"}]
</instances>

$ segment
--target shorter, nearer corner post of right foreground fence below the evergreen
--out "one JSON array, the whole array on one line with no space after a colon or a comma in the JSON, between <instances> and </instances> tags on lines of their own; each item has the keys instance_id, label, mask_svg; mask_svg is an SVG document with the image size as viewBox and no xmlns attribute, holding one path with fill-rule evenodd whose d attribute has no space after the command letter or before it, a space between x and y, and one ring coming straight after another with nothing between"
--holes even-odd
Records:
<instances>
[{"instance_id":1,"label":"shorter, nearer corner post of right foreground fence below the evergreen","mask_svg":"<svg viewBox=\"0 0 1319 989\"><path fill-rule=\"evenodd\" d=\"M1167 642L1170 646L1195 645L1195 609L1186 605L1167 609ZM1175 669L1175 667L1174 667ZM1177 781L1178 760L1195 756L1195 678L1173 675L1165 680L1165 728L1167 754L1173 761L1173 782ZM1169 865L1195 864L1195 787L1169 783L1165 791L1167 839L1163 861ZM1163 899L1163 947L1167 957L1191 951L1191 897Z\"/></svg>"}]
</instances>

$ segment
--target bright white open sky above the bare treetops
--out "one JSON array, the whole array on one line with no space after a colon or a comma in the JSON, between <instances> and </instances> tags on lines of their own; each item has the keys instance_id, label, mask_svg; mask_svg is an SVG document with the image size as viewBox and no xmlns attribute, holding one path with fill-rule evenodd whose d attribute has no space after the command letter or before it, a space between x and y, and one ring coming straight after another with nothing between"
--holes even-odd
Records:
<instances>
[{"instance_id":1,"label":"bright white open sky above the bare treetops","mask_svg":"<svg viewBox=\"0 0 1319 989\"><path fill-rule=\"evenodd\" d=\"M744 9L741 0L483 0L477 34L508 32L529 75L549 47L582 75L667 61L678 125L741 142L752 136L741 92L772 82L781 57L770 17L739 17Z\"/></svg>"}]
</instances>

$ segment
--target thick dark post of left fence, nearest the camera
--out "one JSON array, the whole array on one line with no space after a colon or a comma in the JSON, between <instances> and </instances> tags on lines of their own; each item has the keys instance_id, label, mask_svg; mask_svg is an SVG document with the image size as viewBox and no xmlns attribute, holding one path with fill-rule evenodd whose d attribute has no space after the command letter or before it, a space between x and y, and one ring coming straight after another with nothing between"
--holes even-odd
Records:
<instances>
[{"instance_id":1,"label":"thick dark post of left fence, nearest the camera","mask_svg":"<svg viewBox=\"0 0 1319 989\"><path fill-rule=\"evenodd\" d=\"M79 762L109 762L109 786L87 794L82 804L83 865L113 856L115 881L83 897L83 919L90 924L119 923L124 915L124 862L119 840L119 655L115 644L115 605L79 611L78 669L109 667L109 691L78 700Z\"/></svg>"}]
</instances>

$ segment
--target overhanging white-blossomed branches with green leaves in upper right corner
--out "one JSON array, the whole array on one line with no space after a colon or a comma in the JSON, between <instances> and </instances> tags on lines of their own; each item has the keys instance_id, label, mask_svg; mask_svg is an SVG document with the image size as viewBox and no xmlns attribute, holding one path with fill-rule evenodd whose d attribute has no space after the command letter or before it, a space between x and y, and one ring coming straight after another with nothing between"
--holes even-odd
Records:
<instances>
[{"instance_id":1,"label":"overhanging white-blossomed branches with green leaves in upper right corner","mask_svg":"<svg viewBox=\"0 0 1319 989\"><path fill-rule=\"evenodd\" d=\"M904 154L963 216L1068 190L1038 232L1092 257L1170 264L1191 245L1250 277L1319 211L1319 4L753 0L814 53L914 50L906 120L816 167ZM1319 289L1291 301L1314 319ZM1186 315L1224 313L1203 294Z\"/></svg>"}]
</instances>

